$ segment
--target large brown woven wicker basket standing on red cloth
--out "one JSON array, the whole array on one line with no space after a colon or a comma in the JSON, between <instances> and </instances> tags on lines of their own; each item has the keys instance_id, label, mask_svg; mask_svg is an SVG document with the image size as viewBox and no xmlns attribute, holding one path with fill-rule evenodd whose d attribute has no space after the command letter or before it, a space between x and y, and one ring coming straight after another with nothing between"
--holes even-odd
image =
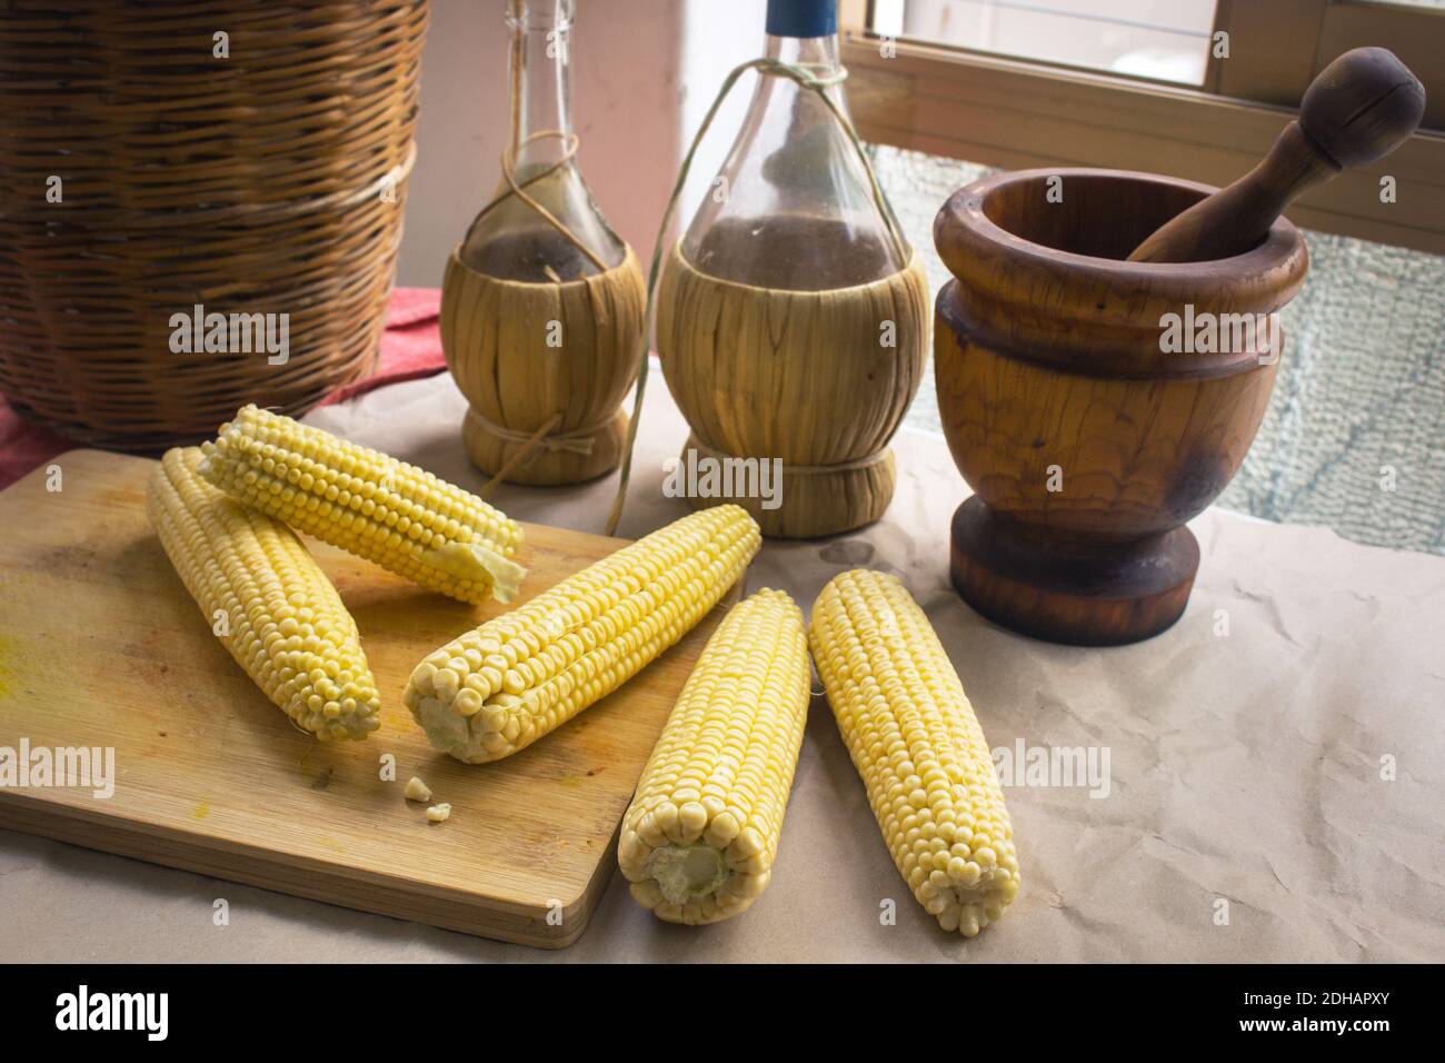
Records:
<instances>
[{"instance_id":1,"label":"large brown woven wicker basket standing on red cloth","mask_svg":"<svg viewBox=\"0 0 1445 1063\"><path fill-rule=\"evenodd\" d=\"M301 412L368 375L426 14L0 6L0 392L79 441L153 450L243 402ZM197 304L289 315L289 359L176 353L172 317Z\"/></svg>"}]
</instances>

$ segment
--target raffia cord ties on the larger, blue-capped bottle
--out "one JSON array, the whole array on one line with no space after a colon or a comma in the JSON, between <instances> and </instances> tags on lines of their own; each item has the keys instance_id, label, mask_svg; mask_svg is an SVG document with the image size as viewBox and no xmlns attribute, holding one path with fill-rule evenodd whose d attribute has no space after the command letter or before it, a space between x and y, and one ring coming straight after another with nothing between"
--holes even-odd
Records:
<instances>
[{"instance_id":1,"label":"raffia cord ties on the larger, blue-capped bottle","mask_svg":"<svg viewBox=\"0 0 1445 1063\"><path fill-rule=\"evenodd\" d=\"M819 77L808 67L799 67L790 62L782 62L780 59L767 59L767 58L750 59L744 64L738 64L737 67L734 67L728 72L728 75L722 80L722 85L718 88L718 94L712 100L712 106L708 107L708 113L702 117L702 124L698 126L698 132L692 137L692 145L688 148L688 153L682 158L682 166L679 166L678 169L678 179L672 187L672 195L668 198L668 208L663 211L662 223L657 226L657 240L653 244L652 265L647 269L647 308L643 321L649 323L649 327L653 320L655 299L657 292L657 276L662 272L663 242L666 240L668 227L672 224L672 214L678 207L678 200L682 198L682 188L686 184L688 172L692 169L692 161L698 153L698 148L702 143L702 137L707 136L708 129L712 126L712 120L717 117L718 110L722 107L724 100L727 100L728 93L733 91L733 85L736 85L737 80L741 78L750 69L756 69L764 75L772 74L776 77L788 78L796 82L799 87L812 90L814 93L818 94L818 98L822 100L822 103L828 107L828 111L832 114L834 120L847 135L848 142L853 145L853 149L858 155L858 161L863 163L864 174L868 175L868 187L873 191L873 202L879 210L879 215L883 218L883 224L889 230L889 236L893 237L893 244L894 249L897 250L899 260L902 262L909 260L907 242L903 239L903 234L899 231L897 224L893 220L893 215L889 213L887 204L883 198L883 188L879 185L879 179L873 172L873 165L868 162L868 153L864 150L863 142L858 139L858 132L853 127L853 123L848 121L847 116L844 116L844 113L838 108L838 104L832 101L832 97L828 95L828 90L832 88L834 85L841 84L848 77L848 71L840 67L835 72L831 72L827 77ZM642 343L642 350L639 351L637 389L633 398L631 419L630 424L627 425L627 445L623 450L621 476L617 482L617 496L613 499L613 508L607 516L608 535L613 535L617 531L617 522L621 519L623 505L627 500L627 482L631 476L631 457L633 457L633 447L637 441L637 424L642 419L642 402L647 386L647 362L649 362L647 354L650 349L652 343L644 336ZM702 448L712 450L711 447L705 445ZM714 454L718 456L721 454L721 451L714 451ZM867 456L864 458L860 458L861 464L844 463L844 466L785 466L783 471L785 473L790 471L793 474L821 473L853 466L866 467L868 464L881 460L884 460L884 456L880 451L876 456Z\"/></svg>"}]
</instances>

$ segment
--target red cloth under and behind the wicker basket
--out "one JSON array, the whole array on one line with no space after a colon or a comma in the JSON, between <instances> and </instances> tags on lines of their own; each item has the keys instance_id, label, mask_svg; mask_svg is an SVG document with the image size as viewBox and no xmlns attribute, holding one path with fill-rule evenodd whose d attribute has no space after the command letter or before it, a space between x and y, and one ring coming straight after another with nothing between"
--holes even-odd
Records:
<instances>
[{"instance_id":1,"label":"red cloth under and behind the wicker basket","mask_svg":"<svg viewBox=\"0 0 1445 1063\"><path fill-rule=\"evenodd\" d=\"M438 318L442 294L436 288L397 288L386 308L381 366L373 376L337 388L321 405L400 380L432 376L447 367ZM78 444L49 428L22 419L0 395L0 489L9 487L36 466Z\"/></svg>"}]
</instances>

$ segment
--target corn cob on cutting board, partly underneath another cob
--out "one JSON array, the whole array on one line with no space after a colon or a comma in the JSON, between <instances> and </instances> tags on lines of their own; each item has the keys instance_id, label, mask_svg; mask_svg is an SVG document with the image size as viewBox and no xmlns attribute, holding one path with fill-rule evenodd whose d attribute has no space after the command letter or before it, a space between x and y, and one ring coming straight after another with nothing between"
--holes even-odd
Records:
<instances>
[{"instance_id":1,"label":"corn cob on cutting board, partly underneath another cob","mask_svg":"<svg viewBox=\"0 0 1445 1063\"><path fill-rule=\"evenodd\" d=\"M337 589L290 528L211 487L199 463L195 447L166 451L146 493L150 525L191 597L298 727L366 738L381 703Z\"/></svg>"}]
</instances>

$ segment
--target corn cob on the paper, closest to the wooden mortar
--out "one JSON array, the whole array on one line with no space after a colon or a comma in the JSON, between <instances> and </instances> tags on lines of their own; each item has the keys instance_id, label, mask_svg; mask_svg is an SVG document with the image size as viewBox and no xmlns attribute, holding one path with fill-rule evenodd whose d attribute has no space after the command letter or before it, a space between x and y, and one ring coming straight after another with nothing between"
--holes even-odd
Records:
<instances>
[{"instance_id":1,"label":"corn cob on the paper, closest to the wooden mortar","mask_svg":"<svg viewBox=\"0 0 1445 1063\"><path fill-rule=\"evenodd\" d=\"M928 618L892 576L835 576L809 644L893 863L967 937L1019 892L1013 826L988 743Z\"/></svg>"}]
</instances>

